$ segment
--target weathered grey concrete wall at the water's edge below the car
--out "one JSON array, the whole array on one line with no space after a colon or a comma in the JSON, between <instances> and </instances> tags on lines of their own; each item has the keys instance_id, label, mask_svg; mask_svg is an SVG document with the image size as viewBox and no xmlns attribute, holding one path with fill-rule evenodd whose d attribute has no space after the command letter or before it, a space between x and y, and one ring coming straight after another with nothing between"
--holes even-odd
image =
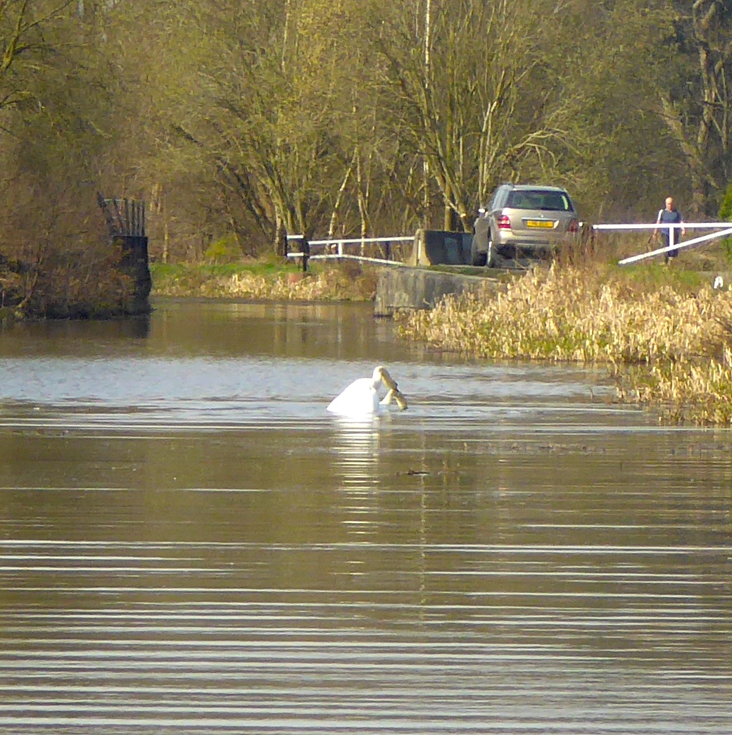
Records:
<instances>
[{"instance_id":1,"label":"weathered grey concrete wall at the water's edge below the car","mask_svg":"<svg viewBox=\"0 0 732 735\"><path fill-rule=\"evenodd\" d=\"M426 268L384 268L376 286L376 316L398 309L431 309L445 295L481 294L495 289L497 279L440 273Z\"/></svg>"}]
</instances>

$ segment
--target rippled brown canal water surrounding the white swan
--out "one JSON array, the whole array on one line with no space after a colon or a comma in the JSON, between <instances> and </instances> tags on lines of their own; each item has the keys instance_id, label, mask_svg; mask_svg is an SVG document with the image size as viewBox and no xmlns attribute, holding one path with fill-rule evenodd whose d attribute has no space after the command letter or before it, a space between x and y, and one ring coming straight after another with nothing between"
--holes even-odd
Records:
<instances>
[{"instance_id":1,"label":"rippled brown canal water surrounding the white swan","mask_svg":"<svg viewBox=\"0 0 732 735\"><path fill-rule=\"evenodd\" d=\"M409 409L329 415L385 365ZM0 732L732 732L732 441L369 306L0 332Z\"/></svg>"}]
</instances>

